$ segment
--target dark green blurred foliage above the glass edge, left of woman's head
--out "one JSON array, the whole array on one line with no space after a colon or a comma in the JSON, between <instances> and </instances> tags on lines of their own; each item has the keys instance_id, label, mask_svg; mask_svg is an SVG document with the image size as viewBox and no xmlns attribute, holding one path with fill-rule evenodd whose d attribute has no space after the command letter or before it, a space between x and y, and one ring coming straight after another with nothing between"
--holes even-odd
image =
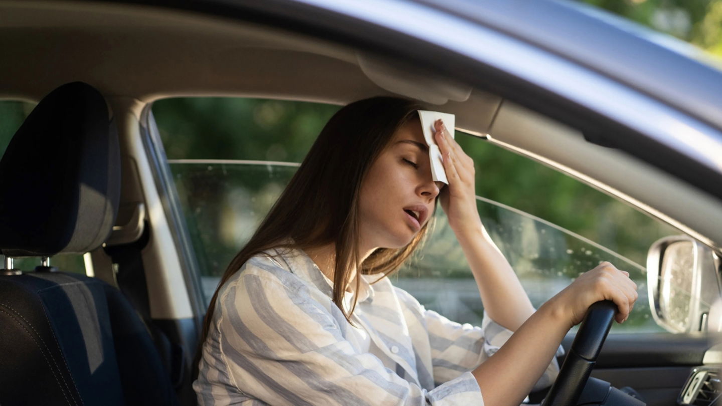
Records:
<instances>
[{"instance_id":1,"label":"dark green blurred foliage above the glass edge, left of woman's head","mask_svg":"<svg viewBox=\"0 0 722 406\"><path fill-rule=\"evenodd\" d=\"M153 104L170 159L301 162L338 109L243 98L167 99Z\"/></svg>"}]
</instances>

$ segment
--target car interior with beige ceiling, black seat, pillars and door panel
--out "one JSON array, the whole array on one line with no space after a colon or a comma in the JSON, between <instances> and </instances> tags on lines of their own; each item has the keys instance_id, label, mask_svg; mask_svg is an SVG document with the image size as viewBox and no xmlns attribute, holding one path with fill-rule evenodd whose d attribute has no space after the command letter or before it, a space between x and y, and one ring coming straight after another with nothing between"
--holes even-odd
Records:
<instances>
[{"instance_id":1,"label":"car interior with beige ceiling, black seat, pillars and door panel","mask_svg":"<svg viewBox=\"0 0 722 406\"><path fill-rule=\"evenodd\" d=\"M722 246L716 196L526 107L533 95L512 94L523 90L491 91L362 44L253 15L2 0L0 49L0 98L38 103L0 161L1 405L196 404L206 309L150 109L164 98L413 98L455 114L459 131ZM56 254L83 255L92 273L53 267ZM19 257L37 267L14 267ZM671 405L700 387L695 372L713 377L713 345L702 333L612 334L591 375Z\"/></svg>"}]
</instances>

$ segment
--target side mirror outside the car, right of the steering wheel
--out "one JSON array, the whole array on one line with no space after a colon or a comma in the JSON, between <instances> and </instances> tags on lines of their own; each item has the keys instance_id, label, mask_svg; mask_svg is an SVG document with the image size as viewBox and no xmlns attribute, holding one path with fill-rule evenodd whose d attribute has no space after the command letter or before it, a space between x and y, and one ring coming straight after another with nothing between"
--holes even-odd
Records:
<instances>
[{"instance_id":1,"label":"side mirror outside the car, right of the steering wheel","mask_svg":"<svg viewBox=\"0 0 722 406\"><path fill-rule=\"evenodd\" d=\"M647 288L654 320L669 332L707 331L720 297L720 256L693 238L655 241L647 254Z\"/></svg>"}]
</instances>

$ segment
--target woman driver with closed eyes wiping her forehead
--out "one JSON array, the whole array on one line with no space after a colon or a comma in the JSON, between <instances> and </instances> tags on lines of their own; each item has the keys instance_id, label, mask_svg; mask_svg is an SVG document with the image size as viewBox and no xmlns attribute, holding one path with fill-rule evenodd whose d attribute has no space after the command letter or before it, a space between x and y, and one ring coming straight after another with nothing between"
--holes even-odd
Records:
<instances>
[{"instance_id":1,"label":"woman driver with closed eyes wiping her forehead","mask_svg":"<svg viewBox=\"0 0 722 406\"><path fill-rule=\"evenodd\" d=\"M448 186L432 181L421 108L370 98L326 124L219 283L193 384L201 405L519 405L554 379L554 354L591 303L612 300L627 318L636 285L608 262L534 310L479 220L473 161L439 121ZM386 277L437 201L477 281L482 327L426 310Z\"/></svg>"}]
</instances>

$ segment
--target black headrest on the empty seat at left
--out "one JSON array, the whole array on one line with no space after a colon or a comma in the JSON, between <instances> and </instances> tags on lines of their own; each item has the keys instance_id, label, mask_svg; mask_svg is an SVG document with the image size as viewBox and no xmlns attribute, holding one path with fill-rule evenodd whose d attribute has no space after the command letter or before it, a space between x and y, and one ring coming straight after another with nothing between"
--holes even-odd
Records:
<instances>
[{"instance_id":1,"label":"black headrest on the empty seat at left","mask_svg":"<svg viewBox=\"0 0 722 406\"><path fill-rule=\"evenodd\" d=\"M103 95L82 82L53 90L0 160L0 252L97 248L116 220L120 173L118 133Z\"/></svg>"}]
</instances>

